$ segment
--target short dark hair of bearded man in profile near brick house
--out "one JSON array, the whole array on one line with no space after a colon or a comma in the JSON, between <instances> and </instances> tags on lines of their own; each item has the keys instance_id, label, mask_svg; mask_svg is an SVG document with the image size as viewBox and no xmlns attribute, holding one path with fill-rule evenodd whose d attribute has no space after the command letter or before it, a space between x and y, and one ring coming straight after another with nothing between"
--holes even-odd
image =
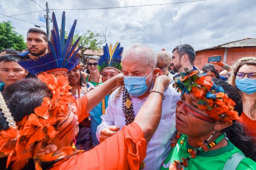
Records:
<instances>
[{"instance_id":1,"label":"short dark hair of bearded man in profile near brick house","mask_svg":"<svg viewBox=\"0 0 256 170\"><path fill-rule=\"evenodd\" d=\"M184 54L188 55L188 61L190 62L191 65L194 64L195 58L196 58L196 53L194 48L189 45L189 44L182 44L182 45L177 45L173 50L172 53L174 53L174 51L177 50L177 53L179 54L179 57L181 57Z\"/></svg>"}]
</instances>

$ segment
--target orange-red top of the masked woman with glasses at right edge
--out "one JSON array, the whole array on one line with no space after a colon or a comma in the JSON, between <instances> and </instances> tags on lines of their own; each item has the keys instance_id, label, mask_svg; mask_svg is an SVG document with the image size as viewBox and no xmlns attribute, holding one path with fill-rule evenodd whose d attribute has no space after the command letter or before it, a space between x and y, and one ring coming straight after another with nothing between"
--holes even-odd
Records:
<instances>
[{"instance_id":1,"label":"orange-red top of the masked woman with glasses at right edge","mask_svg":"<svg viewBox=\"0 0 256 170\"><path fill-rule=\"evenodd\" d=\"M256 120L250 119L244 112L238 120L245 125L246 130L251 136L256 137Z\"/></svg>"}]
</instances>

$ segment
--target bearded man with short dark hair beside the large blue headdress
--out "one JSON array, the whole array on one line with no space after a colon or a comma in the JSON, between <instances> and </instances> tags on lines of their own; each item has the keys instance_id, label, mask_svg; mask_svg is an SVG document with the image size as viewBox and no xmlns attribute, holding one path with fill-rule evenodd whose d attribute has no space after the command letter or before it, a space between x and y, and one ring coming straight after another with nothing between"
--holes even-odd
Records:
<instances>
[{"instance_id":1,"label":"bearded man with short dark hair beside the large blue headdress","mask_svg":"<svg viewBox=\"0 0 256 170\"><path fill-rule=\"evenodd\" d=\"M30 28L26 40L28 51L18 54L24 59L36 59L47 52L48 36L43 30Z\"/></svg>"}]
</instances>

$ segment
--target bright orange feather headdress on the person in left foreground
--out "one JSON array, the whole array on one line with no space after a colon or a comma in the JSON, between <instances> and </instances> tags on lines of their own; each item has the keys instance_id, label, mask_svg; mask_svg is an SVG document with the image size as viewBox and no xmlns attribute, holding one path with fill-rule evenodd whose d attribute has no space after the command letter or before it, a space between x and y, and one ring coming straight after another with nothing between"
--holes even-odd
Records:
<instances>
[{"instance_id":1,"label":"bright orange feather headdress on the person in left foreground","mask_svg":"<svg viewBox=\"0 0 256 170\"><path fill-rule=\"evenodd\" d=\"M41 74L38 79L46 83L52 92L52 99L44 97L42 104L34 109L34 113L23 117L17 126L0 132L0 157L8 156L6 168L22 169L29 159L34 159L36 170L40 170L40 162L49 162L60 157L82 152L72 147L65 147L55 153L34 156L36 142L47 142L58 136L54 125L68 117L68 105L74 102L70 93L68 80L63 75Z\"/></svg>"}]
</instances>

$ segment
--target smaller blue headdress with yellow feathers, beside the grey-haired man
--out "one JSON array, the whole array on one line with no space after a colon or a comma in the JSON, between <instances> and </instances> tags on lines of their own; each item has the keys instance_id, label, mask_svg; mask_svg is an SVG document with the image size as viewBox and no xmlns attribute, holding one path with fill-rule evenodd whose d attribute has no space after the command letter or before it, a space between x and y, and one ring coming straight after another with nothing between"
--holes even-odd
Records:
<instances>
[{"instance_id":1,"label":"smaller blue headdress with yellow feathers, beside the grey-haired man","mask_svg":"<svg viewBox=\"0 0 256 170\"><path fill-rule=\"evenodd\" d=\"M119 42L116 42L113 49L112 44L110 44L108 47L108 43L106 43L106 45L103 47L103 55L100 57L97 65L100 73L102 73L102 71L107 67L112 67L121 72L121 54L123 49L124 47L120 47Z\"/></svg>"}]
</instances>

